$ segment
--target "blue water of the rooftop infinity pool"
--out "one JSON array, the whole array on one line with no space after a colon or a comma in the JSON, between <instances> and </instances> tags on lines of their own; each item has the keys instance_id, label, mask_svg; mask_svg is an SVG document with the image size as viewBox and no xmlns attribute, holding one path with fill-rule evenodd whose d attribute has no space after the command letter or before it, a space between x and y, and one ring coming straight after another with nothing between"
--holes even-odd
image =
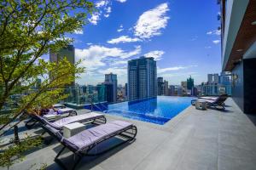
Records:
<instances>
[{"instance_id":1,"label":"blue water of the rooftop infinity pool","mask_svg":"<svg viewBox=\"0 0 256 170\"><path fill-rule=\"evenodd\" d=\"M192 97L158 96L157 98L127 101L112 105L98 104L94 110L124 116L143 122L163 125L186 109Z\"/></svg>"}]
</instances>

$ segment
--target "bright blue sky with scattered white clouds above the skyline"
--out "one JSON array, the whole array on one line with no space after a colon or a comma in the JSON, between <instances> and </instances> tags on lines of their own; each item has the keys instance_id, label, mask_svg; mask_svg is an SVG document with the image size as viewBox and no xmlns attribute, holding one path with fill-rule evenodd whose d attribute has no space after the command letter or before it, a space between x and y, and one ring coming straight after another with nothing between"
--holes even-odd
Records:
<instances>
[{"instance_id":1,"label":"bright blue sky with scattered white clouds above the skyline","mask_svg":"<svg viewBox=\"0 0 256 170\"><path fill-rule=\"evenodd\" d=\"M158 77L195 84L221 71L219 6L216 0L99 0L97 12L73 35L76 60L85 73L81 85L104 82L113 72L127 82L127 61L154 57Z\"/></svg>"}]
</instances>

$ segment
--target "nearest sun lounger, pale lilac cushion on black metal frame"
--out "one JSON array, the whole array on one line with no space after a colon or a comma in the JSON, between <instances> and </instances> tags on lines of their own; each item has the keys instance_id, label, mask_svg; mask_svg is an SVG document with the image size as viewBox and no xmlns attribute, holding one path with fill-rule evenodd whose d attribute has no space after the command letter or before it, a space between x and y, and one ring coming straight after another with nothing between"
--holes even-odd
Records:
<instances>
[{"instance_id":1,"label":"nearest sun lounger, pale lilac cushion on black metal frame","mask_svg":"<svg viewBox=\"0 0 256 170\"><path fill-rule=\"evenodd\" d=\"M123 121L108 122L106 124L92 127L82 131L81 133L77 133L68 139L64 138L60 131L57 131L55 128L50 127L49 125L45 125L43 127L47 133L55 137L55 139L58 139L58 141L63 145L63 148L59 151L57 156L55 156L55 161L61 165L61 167L66 169L67 167L64 165L64 163L58 159L58 157L61 156L63 150L66 148L73 152L75 158L78 158L74 161L72 168L74 169L79 164L79 161L83 156L101 155L108 150L112 150L113 148L119 146L120 144L134 140L137 135L137 127L130 122ZM101 144L103 141L111 139L115 136L121 137L123 142L115 144L106 150L90 153L90 150L97 149L96 147L98 144Z\"/></svg>"}]
</instances>

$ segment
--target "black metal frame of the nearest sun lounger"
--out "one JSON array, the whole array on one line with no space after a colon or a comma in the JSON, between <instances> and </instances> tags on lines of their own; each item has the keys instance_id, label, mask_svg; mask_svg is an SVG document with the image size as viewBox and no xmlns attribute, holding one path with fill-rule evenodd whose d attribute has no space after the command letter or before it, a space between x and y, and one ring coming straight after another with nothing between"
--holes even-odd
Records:
<instances>
[{"instance_id":1,"label":"black metal frame of the nearest sun lounger","mask_svg":"<svg viewBox=\"0 0 256 170\"><path fill-rule=\"evenodd\" d=\"M108 135L108 137L104 138L104 139L101 139L101 140L98 140L96 141L96 143L94 144L90 144L86 150L76 150L74 149L71 145L69 144L66 144L64 142L61 141L61 138L56 136L55 133L53 133L48 127L46 126L42 126L44 128L44 130L49 133L49 135L55 137L55 139L58 139L58 141L63 145L63 147L61 148L61 150L58 152L58 154L55 156L55 162L57 164L59 164L63 169L67 169L67 167L64 165L64 163L58 159L59 156L61 156L61 153L67 148L68 150L71 150L73 152L73 156L78 156L78 159L76 161L74 161L74 164L73 164L73 167L72 169L75 169L75 167L77 167L77 165L79 164L79 161L81 161L82 157L83 156L99 156L99 155L102 155L106 152L108 152L109 150L113 150L114 148L118 147L119 145L121 144L125 144L126 142L129 142L129 141L134 141L135 140L135 137L137 135L137 127L135 125L131 125L129 127L126 127L120 131L117 131L116 133L111 133ZM131 131L131 132L129 132ZM123 142L120 142L119 144L115 144L113 145L112 147L108 148L107 150L102 150L101 152L98 152L96 154L90 154L90 150L93 150L97 144L100 144L102 143L103 141L105 140L108 140L108 139L111 139L115 136L119 136L119 137L122 137L123 139L125 139Z\"/></svg>"}]
</instances>

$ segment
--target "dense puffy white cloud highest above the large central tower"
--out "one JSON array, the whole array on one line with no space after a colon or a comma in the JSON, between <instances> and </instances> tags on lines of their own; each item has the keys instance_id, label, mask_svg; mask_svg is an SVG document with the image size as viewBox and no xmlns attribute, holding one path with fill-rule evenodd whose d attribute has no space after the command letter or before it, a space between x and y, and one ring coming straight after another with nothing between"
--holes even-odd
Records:
<instances>
[{"instance_id":1,"label":"dense puffy white cloud highest above the large central tower","mask_svg":"<svg viewBox=\"0 0 256 170\"><path fill-rule=\"evenodd\" d=\"M161 29L166 28L167 21L170 19L166 16L168 10L168 4L161 3L156 8L144 12L133 27L135 35L140 38L159 36Z\"/></svg>"}]
</instances>

